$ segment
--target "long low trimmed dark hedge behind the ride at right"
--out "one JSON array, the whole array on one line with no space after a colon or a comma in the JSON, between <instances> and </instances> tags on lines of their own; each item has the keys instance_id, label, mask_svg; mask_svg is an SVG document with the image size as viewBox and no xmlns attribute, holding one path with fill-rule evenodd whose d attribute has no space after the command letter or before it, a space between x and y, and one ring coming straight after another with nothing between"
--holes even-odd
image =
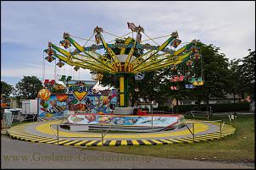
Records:
<instances>
[{"instance_id":1,"label":"long low trimmed dark hedge behind the ride at right","mask_svg":"<svg viewBox=\"0 0 256 170\"><path fill-rule=\"evenodd\" d=\"M250 103L248 102L238 102L234 103L220 103L220 104L209 104L213 112L241 112L241 111L250 111ZM172 109L168 106L159 106L158 108L153 108L155 111L165 111L172 112ZM206 105L179 105L173 108L174 112L189 112L192 110L206 111Z\"/></svg>"}]
</instances>

